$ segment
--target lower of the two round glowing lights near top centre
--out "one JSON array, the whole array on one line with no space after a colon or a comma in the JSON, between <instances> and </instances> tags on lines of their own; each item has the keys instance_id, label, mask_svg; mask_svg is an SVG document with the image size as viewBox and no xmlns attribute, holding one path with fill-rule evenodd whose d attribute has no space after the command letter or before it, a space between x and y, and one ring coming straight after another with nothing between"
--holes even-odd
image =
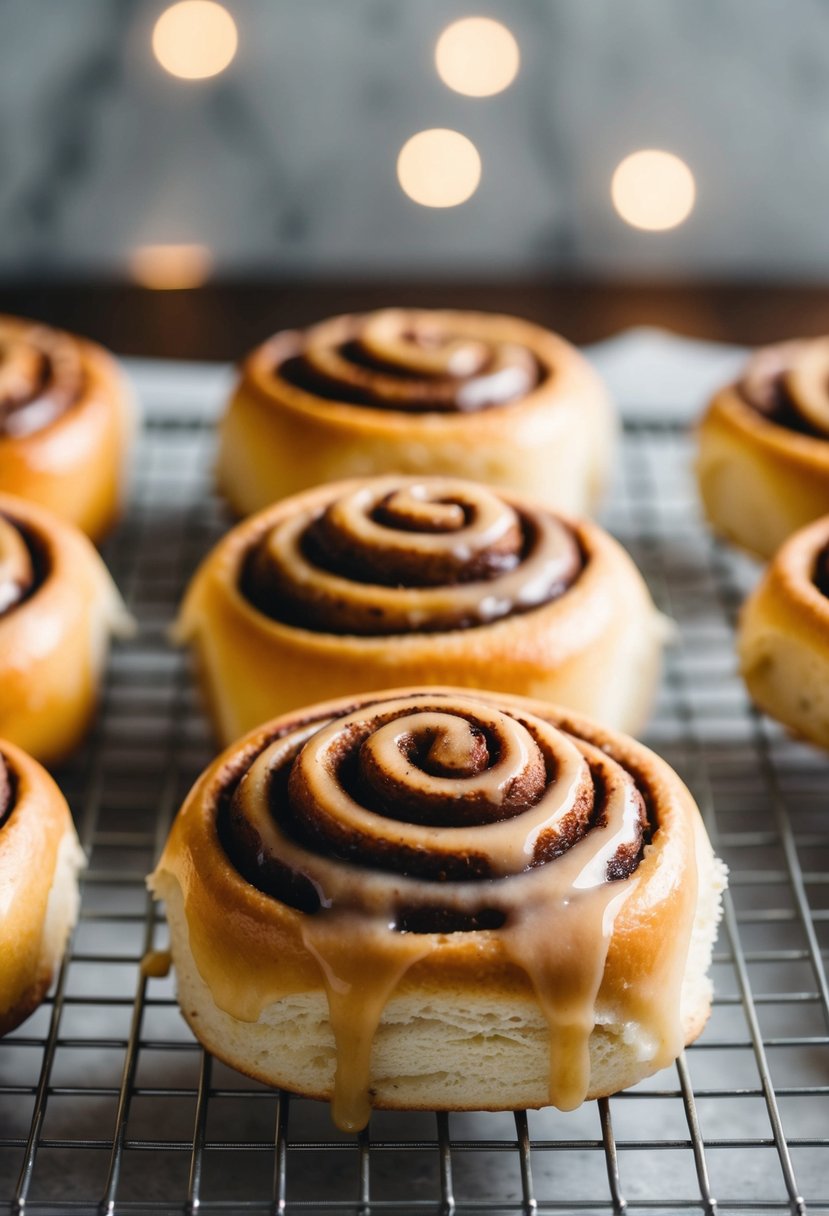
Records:
<instances>
[{"instance_id":1,"label":"lower of the two round glowing lights near top centre","mask_svg":"<svg viewBox=\"0 0 829 1216\"><path fill-rule=\"evenodd\" d=\"M418 131L400 150L397 181L422 207L457 207L478 190L478 148L459 131L442 126Z\"/></svg>"}]
</instances>

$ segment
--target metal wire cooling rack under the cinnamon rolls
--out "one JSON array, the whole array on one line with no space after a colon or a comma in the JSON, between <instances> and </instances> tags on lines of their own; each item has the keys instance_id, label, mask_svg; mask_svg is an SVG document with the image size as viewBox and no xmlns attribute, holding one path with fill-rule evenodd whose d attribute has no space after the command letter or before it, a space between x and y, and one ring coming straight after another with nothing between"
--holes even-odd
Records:
<instances>
[{"instance_id":1,"label":"metal wire cooling rack under the cinnamon rolls","mask_svg":"<svg viewBox=\"0 0 829 1216\"><path fill-rule=\"evenodd\" d=\"M731 894L711 1020L675 1068L581 1110L389 1114L359 1137L327 1108L205 1055L147 899L170 817L210 754L167 629L226 527L212 429L150 418L107 559L140 621L61 782L90 858L50 998L0 1041L0 1203L13 1212L829 1212L829 761L750 708L733 619L755 578L698 520L689 444L631 423L607 514L678 623L648 734L694 790ZM715 815L716 807L716 815Z\"/></svg>"}]
</instances>

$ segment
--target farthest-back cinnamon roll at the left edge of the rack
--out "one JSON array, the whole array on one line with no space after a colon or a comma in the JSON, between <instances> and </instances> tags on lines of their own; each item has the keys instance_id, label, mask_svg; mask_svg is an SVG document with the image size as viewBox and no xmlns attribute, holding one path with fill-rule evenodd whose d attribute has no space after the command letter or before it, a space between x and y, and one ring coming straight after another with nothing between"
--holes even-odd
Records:
<instances>
[{"instance_id":1,"label":"farthest-back cinnamon roll at the left edge of the rack","mask_svg":"<svg viewBox=\"0 0 829 1216\"><path fill-rule=\"evenodd\" d=\"M132 405L102 347L0 316L0 492L98 540L115 522Z\"/></svg>"}]
</instances>

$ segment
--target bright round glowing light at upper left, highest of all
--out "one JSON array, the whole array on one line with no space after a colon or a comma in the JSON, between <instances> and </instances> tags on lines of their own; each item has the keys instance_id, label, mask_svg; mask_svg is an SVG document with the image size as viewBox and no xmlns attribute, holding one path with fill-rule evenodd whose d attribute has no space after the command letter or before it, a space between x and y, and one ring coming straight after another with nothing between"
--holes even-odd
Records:
<instances>
[{"instance_id":1,"label":"bright round glowing light at upper left, highest of all","mask_svg":"<svg viewBox=\"0 0 829 1216\"><path fill-rule=\"evenodd\" d=\"M232 62L238 34L231 15L215 0L180 0L156 22L152 44L170 75L204 80Z\"/></svg>"}]
</instances>

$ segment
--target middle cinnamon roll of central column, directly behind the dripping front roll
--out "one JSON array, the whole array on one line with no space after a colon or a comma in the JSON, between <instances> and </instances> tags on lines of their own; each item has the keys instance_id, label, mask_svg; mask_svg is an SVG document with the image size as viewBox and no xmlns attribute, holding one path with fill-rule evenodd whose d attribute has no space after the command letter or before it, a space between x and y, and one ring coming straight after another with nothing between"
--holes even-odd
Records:
<instances>
[{"instance_id":1,"label":"middle cinnamon roll of central column, directly behind the dripping front roll","mask_svg":"<svg viewBox=\"0 0 829 1216\"><path fill-rule=\"evenodd\" d=\"M600 528L450 478L340 482L239 524L197 572L190 642L224 742L309 699L486 685L636 730L662 618Z\"/></svg>"}]
</instances>

